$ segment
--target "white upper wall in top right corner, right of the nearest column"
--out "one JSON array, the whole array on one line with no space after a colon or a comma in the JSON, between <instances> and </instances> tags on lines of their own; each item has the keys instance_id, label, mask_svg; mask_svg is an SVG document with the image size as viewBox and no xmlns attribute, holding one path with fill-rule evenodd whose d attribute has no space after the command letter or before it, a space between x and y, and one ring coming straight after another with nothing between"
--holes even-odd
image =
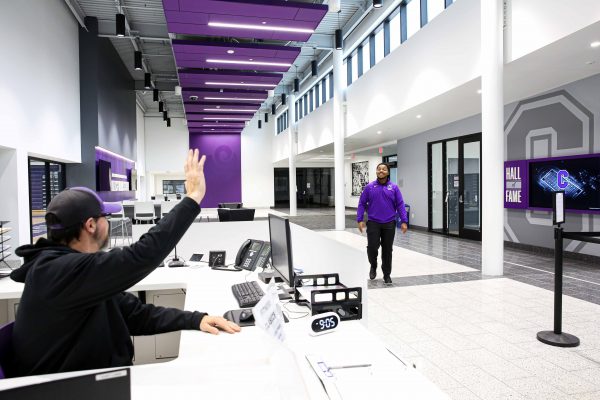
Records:
<instances>
[{"instance_id":1,"label":"white upper wall in top right corner, right of the nearest column","mask_svg":"<svg viewBox=\"0 0 600 400\"><path fill-rule=\"evenodd\" d=\"M509 1L505 62L516 60L600 20L598 0Z\"/></svg>"}]
</instances>

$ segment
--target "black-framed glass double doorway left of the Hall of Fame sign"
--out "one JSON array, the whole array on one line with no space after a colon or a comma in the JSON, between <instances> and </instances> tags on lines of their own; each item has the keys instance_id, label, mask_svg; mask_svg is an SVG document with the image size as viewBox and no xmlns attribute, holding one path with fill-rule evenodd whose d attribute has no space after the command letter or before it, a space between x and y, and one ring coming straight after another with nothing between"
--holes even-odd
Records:
<instances>
[{"instance_id":1,"label":"black-framed glass double doorway left of the Hall of Fame sign","mask_svg":"<svg viewBox=\"0 0 600 400\"><path fill-rule=\"evenodd\" d=\"M428 143L431 232L481 240L481 133Z\"/></svg>"}]
</instances>

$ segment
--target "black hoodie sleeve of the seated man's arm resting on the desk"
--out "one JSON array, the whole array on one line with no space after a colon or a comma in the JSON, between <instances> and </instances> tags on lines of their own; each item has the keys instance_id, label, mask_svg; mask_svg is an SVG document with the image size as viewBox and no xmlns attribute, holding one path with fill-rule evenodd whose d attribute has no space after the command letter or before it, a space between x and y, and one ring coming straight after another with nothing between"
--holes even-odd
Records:
<instances>
[{"instance_id":1,"label":"black hoodie sleeve of the seated man's arm resting on the desk","mask_svg":"<svg viewBox=\"0 0 600 400\"><path fill-rule=\"evenodd\" d=\"M129 333L134 336L182 329L200 330L200 321L206 315L198 311L181 311L176 308L143 304L131 293L119 294L118 303Z\"/></svg>"}]
</instances>

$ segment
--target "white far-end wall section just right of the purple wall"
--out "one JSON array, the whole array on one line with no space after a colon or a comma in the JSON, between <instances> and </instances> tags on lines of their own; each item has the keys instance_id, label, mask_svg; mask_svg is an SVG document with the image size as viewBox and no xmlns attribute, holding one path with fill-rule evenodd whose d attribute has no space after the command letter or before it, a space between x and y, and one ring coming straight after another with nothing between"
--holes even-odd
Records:
<instances>
[{"instance_id":1,"label":"white far-end wall section just right of the purple wall","mask_svg":"<svg viewBox=\"0 0 600 400\"><path fill-rule=\"evenodd\" d=\"M242 202L244 207L272 207L275 205L275 188L271 147L273 143L277 119L269 115L265 123L264 113L262 128L258 129L255 116L242 131Z\"/></svg>"}]
</instances>

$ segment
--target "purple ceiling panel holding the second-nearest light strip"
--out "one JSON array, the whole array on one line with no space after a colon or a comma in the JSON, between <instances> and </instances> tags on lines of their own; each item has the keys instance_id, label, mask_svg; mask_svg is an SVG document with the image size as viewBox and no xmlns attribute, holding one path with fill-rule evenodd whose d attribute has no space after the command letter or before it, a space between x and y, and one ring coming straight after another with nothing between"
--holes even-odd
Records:
<instances>
[{"instance_id":1,"label":"purple ceiling panel holding the second-nearest light strip","mask_svg":"<svg viewBox=\"0 0 600 400\"><path fill-rule=\"evenodd\" d=\"M300 54L298 47L174 40L179 68L220 68L286 72ZM229 53L228 53L229 52Z\"/></svg>"}]
</instances>

